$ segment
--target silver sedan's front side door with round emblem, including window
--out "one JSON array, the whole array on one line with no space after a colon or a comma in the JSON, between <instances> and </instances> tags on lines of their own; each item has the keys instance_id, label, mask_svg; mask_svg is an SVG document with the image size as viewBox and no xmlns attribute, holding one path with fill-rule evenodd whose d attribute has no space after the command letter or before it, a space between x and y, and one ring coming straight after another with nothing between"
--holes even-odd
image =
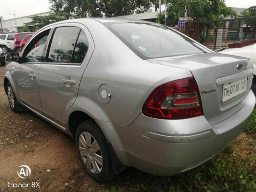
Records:
<instances>
[{"instance_id":1,"label":"silver sedan's front side door with round emblem, including window","mask_svg":"<svg viewBox=\"0 0 256 192\"><path fill-rule=\"evenodd\" d=\"M14 79L19 99L37 112L42 112L38 92L38 73L46 46L46 41L39 46L38 41L46 39L49 33L50 29L46 29L36 35L20 55L22 62L17 63L15 67Z\"/></svg>"}]
</instances>

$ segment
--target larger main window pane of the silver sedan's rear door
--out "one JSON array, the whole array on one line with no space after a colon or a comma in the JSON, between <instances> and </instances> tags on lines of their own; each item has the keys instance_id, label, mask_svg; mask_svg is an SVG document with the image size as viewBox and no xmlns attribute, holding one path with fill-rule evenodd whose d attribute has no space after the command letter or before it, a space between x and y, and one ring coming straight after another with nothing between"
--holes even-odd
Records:
<instances>
[{"instance_id":1,"label":"larger main window pane of the silver sedan's rear door","mask_svg":"<svg viewBox=\"0 0 256 192\"><path fill-rule=\"evenodd\" d=\"M77 27L56 28L47 62L70 63L79 32Z\"/></svg>"}]
</instances>

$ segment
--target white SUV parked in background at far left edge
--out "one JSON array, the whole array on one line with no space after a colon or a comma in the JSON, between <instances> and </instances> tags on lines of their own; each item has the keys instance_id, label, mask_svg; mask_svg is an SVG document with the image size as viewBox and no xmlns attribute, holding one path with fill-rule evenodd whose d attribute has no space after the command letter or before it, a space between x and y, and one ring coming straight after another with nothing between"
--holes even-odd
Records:
<instances>
[{"instance_id":1,"label":"white SUV parked in background at far left edge","mask_svg":"<svg viewBox=\"0 0 256 192\"><path fill-rule=\"evenodd\" d=\"M4 54L12 51L14 46L14 33L2 33L0 34L0 48Z\"/></svg>"}]
</instances>

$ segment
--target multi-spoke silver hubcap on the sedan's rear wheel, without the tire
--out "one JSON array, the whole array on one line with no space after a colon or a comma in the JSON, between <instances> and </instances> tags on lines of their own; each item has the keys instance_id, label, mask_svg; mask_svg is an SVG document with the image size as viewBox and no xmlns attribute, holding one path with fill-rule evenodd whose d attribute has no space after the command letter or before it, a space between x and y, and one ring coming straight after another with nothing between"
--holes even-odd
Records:
<instances>
[{"instance_id":1,"label":"multi-spoke silver hubcap on the sedan's rear wheel, without the tire","mask_svg":"<svg viewBox=\"0 0 256 192\"><path fill-rule=\"evenodd\" d=\"M99 174L103 167L103 158L98 142L89 132L82 132L78 144L84 164L90 172Z\"/></svg>"}]
</instances>

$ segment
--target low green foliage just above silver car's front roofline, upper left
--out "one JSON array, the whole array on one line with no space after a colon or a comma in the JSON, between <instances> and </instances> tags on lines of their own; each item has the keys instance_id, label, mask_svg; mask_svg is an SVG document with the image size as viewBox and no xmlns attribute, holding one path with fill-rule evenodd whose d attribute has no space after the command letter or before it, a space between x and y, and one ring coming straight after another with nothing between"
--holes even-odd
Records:
<instances>
[{"instance_id":1,"label":"low green foliage just above silver car's front roofline, upper left","mask_svg":"<svg viewBox=\"0 0 256 192\"><path fill-rule=\"evenodd\" d=\"M46 16L36 15L36 16L30 17L32 18L32 21L27 23L27 25L33 25L35 29L40 29L49 24L60 22L61 20L67 20L70 17L72 17L72 15L66 12L54 12Z\"/></svg>"}]
</instances>

